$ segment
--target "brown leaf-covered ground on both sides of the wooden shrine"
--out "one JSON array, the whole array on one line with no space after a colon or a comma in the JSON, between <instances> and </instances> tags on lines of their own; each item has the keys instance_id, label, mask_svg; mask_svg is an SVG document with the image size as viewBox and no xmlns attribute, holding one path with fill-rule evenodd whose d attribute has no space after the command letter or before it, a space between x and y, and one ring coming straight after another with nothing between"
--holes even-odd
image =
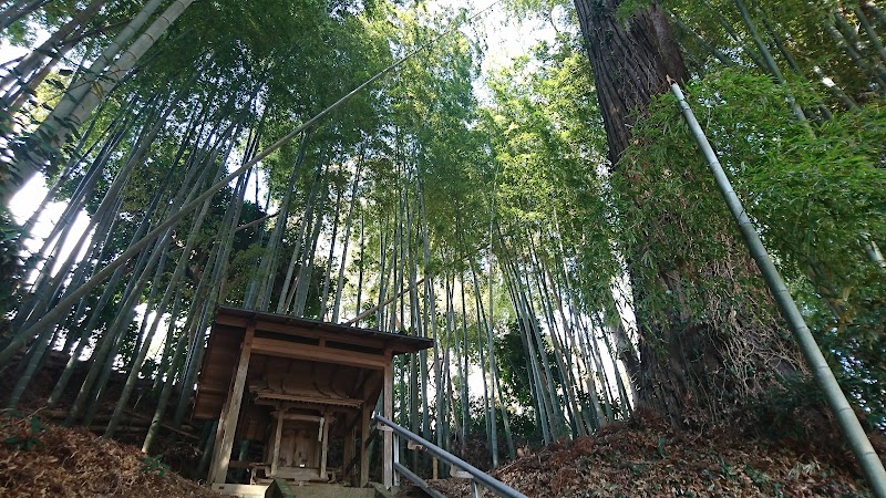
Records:
<instances>
[{"instance_id":1,"label":"brown leaf-covered ground on both sides of the wooden shrine","mask_svg":"<svg viewBox=\"0 0 886 498\"><path fill-rule=\"evenodd\" d=\"M870 496L852 456L832 440L838 435L823 434L771 440L724 429L700 436L639 414L569 445L549 445L493 476L533 498ZM472 496L465 479L431 483L449 498ZM134 446L44 423L38 413L0 417L0 496L219 495Z\"/></svg>"}]
</instances>

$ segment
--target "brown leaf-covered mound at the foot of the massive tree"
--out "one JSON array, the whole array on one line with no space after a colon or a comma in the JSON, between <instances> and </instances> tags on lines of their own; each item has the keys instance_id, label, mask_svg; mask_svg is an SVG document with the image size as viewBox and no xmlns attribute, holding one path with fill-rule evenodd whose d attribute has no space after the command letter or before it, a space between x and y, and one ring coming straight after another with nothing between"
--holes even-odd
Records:
<instances>
[{"instance_id":1,"label":"brown leaf-covered mound at the foot of the massive tree","mask_svg":"<svg viewBox=\"0 0 886 498\"><path fill-rule=\"evenodd\" d=\"M732 426L700 435L635 413L628 422L549 445L492 475L532 498L872 496L827 417L818 413L790 425L799 430L781 432L785 427L775 424L764 434ZM875 446L884 455L883 437ZM472 496L466 479L431 485L449 498Z\"/></svg>"}]
</instances>

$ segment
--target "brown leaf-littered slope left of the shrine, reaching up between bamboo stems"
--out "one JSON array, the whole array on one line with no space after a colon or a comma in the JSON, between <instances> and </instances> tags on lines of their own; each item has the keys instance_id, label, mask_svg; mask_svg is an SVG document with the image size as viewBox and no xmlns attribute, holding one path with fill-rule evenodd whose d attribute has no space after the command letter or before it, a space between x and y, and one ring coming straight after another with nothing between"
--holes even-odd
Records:
<instances>
[{"instance_id":1,"label":"brown leaf-littered slope left of the shrine, reaching up between bamboo stems","mask_svg":"<svg viewBox=\"0 0 886 498\"><path fill-rule=\"evenodd\" d=\"M220 496L175 471L187 474L187 469L197 466L199 452L194 448L194 438L179 436L176 440L168 430L163 430L153 456L141 452L145 417L150 421L155 406L151 400L130 406L115 439L97 435L104 430L114 408L112 401L100 404L96 421L101 423L96 422L92 430L58 425L73 404L76 386L86 373L85 369L76 369L72 388L55 409L47 408L47 397L64 362L65 359L52 357L31 382L18 409L11 414L0 411L0 497ZM17 373L18 365L12 365L0 374L0 406L12 392ZM123 380L121 375L112 375L105 400L119 396Z\"/></svg>"}]
</instances>

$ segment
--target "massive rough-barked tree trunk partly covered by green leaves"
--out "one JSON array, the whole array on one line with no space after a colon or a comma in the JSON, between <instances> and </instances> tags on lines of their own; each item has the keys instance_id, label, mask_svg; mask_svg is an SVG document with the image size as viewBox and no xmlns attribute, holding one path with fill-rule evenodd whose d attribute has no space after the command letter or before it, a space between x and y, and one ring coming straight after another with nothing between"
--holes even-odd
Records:
<instances>
[{"instance_id":1,"label":"massive rough-barked tree trunk partly covered by green leaves","mask_svg":"<svg viewBox=\"0 0 886 498\"><path fill-rule=\"evenodd\" d=\"M620 3L575 0L614 178L637 187L649 181L645 165L636 164L637 158L630 168L619 164L631 144L632 125L653 96L668 92L668 76L679 82L688 75L661 7L653 3L619 20ZM698 178L686 188L696 196L715 196L710 184ZM758 271L738 234L727 228L725 210L722 228L711 227L721 232L702 235L727 248L725 256L694 257L680 253L684 241L699 237L683 228L687 215L647 216L661 199L647 198L643 188L628 189L635 212L622 216L635 216L627 222L643 234L635 247L626 248L641 336L638 403L677 424L722 419L780 374L793 372L799 364L795 347L779 330L769 295L748 283L760 282ZM691 204L689 190L674 195Z\"/></svg>"}]
</instances>

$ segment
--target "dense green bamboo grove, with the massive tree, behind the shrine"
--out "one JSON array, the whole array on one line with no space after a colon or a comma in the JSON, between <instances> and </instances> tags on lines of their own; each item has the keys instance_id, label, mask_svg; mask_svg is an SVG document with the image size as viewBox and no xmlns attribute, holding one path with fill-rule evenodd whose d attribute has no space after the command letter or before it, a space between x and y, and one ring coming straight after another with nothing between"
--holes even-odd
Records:
<instances>
[{"instance_id":1,"label":"dense green bamboo grove, with the massive tree, behind the shrine","mask_svg":"<svg viewBox=\"0 0 886 498\"><path fill-rule=\"evenodd\" d=\"M151 452L190 413L223 305L433 339L394 361L395 422L480 439L490 466L639 405L694 428L810 408L671 76L884 430L878 3L491 11L555 29L492 68L488 11L425 2L0 2L25 49L0 66L6 405L61 357L45 403L91 426L111 402L112 436L150 392Z\"/></svg>"}]
</instances>

